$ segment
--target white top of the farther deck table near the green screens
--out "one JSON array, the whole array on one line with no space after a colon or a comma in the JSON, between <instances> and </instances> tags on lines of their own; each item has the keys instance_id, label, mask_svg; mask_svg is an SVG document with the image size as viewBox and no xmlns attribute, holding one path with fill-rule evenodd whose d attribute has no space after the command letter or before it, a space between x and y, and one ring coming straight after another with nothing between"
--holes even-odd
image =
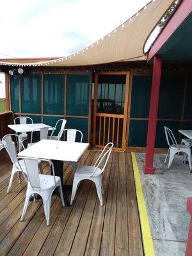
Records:
<instances>
[{"instance_id":1,"label":"white top of the farther deck table near the green screens","mask_svg":"<svg viewBox=\"0 0 192 256\"><path fill-rule=\"evenodd\" d=\"M34 129L52 127L47 124L9 124L8 127L15 132L32 132Z\"/></svg>"}]
</instances>

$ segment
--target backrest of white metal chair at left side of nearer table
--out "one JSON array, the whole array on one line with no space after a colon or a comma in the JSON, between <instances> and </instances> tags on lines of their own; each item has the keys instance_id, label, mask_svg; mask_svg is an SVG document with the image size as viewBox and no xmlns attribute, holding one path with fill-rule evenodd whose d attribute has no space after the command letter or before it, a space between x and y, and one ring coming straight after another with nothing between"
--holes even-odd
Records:
<instances>
[{"instance_id":1,"label":"backrest of white metal chair at left side of nearer table","mask_svg":"<svg viewBox=\"0 0 192 256\"><path fill-rule=\"evenodd\" d=\"M19 141L19 143L21 143L22 148L25 149L22 141L20 140L20 138L17 134L7 134L7 135L5 135L2 139L3 140L3 145L6 149L6 151L8 152L8 155L10 156L10 159L12 160L12 163L15 164L15 166L17 168L19 168L18 161L17 161L17 150L16 150L16 147L15 147L15 143L13 143L12 136L15 136L15 138Z\"/></svg>"}]
</instances>

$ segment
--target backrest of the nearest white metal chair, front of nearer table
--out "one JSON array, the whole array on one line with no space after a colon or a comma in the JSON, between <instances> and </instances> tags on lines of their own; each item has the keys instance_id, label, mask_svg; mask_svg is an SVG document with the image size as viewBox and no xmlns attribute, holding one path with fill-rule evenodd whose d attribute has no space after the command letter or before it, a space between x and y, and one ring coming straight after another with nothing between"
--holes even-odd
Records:
<instances>
[{"instance_id":1,"label":"backrest of the nearest white metal chair, front of nearer table","mask_svg":"<svg viewBox=\"0 0 192 256\"><path fill-rule=\"evenodd\" d=\"M24 175L27 182L29 182L32 189L36 191L40 191L40 177L38 173L38 161L45 161L52 166L52 175L54 176L54 186L56 186L55 173L54 173L54 165L50 160L41 159L41 158L32 158L32 157L17 157L17 160L24 160L26 173L28 176L26 177L24 171L22 170L22 166L20 166L20 170L22 170L22 174Z\"/></svg>"}]
</instances>

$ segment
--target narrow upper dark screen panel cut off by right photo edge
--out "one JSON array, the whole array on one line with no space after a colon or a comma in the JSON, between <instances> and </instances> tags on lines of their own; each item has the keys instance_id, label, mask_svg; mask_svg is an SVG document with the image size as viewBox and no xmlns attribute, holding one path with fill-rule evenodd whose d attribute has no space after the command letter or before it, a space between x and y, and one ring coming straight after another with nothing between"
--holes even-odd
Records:
<instances>
[{"instance_id":1,"label":"narrow upper dark screen panel cut off by right photo edge","mask_svg":"<svg viewBox=\"0 0 192 256\"><path fill-rule=\"evenodd\" d=\"M192 119L192 77L188 77L188 87L186 92L186 104L184 110L184 119Z\"/></svg>"}]
</instances>

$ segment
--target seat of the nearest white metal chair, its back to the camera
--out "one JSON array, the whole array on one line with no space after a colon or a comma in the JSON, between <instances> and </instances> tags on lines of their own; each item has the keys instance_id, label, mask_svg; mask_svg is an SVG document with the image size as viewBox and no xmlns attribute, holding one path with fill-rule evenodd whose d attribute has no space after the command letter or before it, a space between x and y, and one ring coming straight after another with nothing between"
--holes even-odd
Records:
<instances>
[{"instance_id":1,"label":"seat of the nearest white metal chair, its back to the camera","mask_svg":"<svg viewBox=\"0 0 192 256\"><path fill-rule=\"evenodd\" d=\"M54 187L54 176L39 174L39 179L40 179L40 190L41 191L49 190L52 187ZM55 176L56 186L58 186L60 184L60 180L61 180L60 177ZM29 182L28 182L28 188L31 190L34 190L33 188L31 188Z\"/></svg>"}]
</instances>

